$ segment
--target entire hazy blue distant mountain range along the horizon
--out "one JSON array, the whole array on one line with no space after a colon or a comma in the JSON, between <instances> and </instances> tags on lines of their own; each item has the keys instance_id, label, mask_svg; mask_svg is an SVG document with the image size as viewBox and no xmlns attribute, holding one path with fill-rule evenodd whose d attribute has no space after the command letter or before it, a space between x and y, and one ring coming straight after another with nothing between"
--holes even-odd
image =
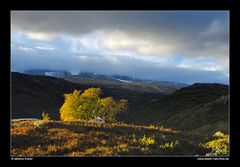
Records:
<instances>
[{"instance_id":1,"label":"entire hazy blue distant mountain range along the horizon","mask_svg":"<svg viewBox=\"0 0 240 167\"><path fill-rule=\"evenodd\" d=\"M16 71L17 72L17 71ZM176 83L169 81L156 81L140 79L135 76L124 75L102 75L93 72L80 72L77 75L72 75L71 72L63 70L50 69L31 69L21 73L29 75L41 75L64 78L74 83L95 84L99 86L117 86L121 88L141 89L144 92L161 92L173 93L175 90L189 86L185 83ZM131 84L131 85L129 85Z\"/></svg>"}]
</instances>

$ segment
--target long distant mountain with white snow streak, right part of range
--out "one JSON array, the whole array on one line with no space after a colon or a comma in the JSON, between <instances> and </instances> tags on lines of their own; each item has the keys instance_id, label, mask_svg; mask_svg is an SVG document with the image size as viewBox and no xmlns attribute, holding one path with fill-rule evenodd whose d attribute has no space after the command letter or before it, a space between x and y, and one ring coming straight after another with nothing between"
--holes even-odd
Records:
<instances>
[{"instance_id":1,"label":"long distant mountain with white snow streak, right part of range","mask_svg":"<svg viewBox=\"0 0 240 167\"><path fill-rule=\"evenodd\" d=\"M171 94L177 89L187 86L186 84L176 84L171 82L150 82L148 80L131 79L127 76L113 77L89 73L81 73L80 75L71 75L62 78L77 84L87 84L92 86L103 86L108 88L127 89L140 92L163 94Z\"/></svg>"}]
</instances>

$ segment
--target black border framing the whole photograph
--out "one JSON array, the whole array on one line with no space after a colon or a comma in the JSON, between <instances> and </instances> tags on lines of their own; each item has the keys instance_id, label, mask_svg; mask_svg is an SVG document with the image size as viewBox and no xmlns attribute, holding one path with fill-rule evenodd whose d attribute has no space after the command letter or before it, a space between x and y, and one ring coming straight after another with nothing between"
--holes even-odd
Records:
<instances>
[{"instance_id":1,"label":"black border framing the whole photograph","mask_svg":"<svg viewBox=\"0 0 240 167\"><path fill-rule=\"evenodd\" d=\"M111 5L111 6L109 6ZM238 83L236 82L240 77L237 77L237 45L240 33L239 33L239 17L238 13L240 8L237 5L236 1L133 1L130 3L124 3L124 1L113 1L110 4L110 1L103 3L102 1L88 1L88 2L70 2L70 1L53 1L52 3L44 1L31 1L23 3L22 1L12 2L9 4L3 5L1 10L1 38L2 42L0 45L0 55L1 55L1 90L4 91L4 96L2 95L1 103L4 104L4 109L1 109L0 116L0 132L1 132L1 147L0 147L0 159L11 160L9 152L9 136L10 136L10 123L9 123L9 113L10 113L10 12L11 10L229 10L230 11L230 160L237 160L237 148L239 148L239 132L237 126L234 125L237 121L237 103L235 100L238 99L237 87ZM235 63L235 65L234 65ZM129 157L129 158L76 158L76 157L61 157L61 158L34 158L34 160L117 160L118 162L124 159L125 162L129 160L145 161L150 162L152 160L161 160L161 161L172 161L175 160L197 160L197 158L192 157ZM19 162L19 161L16 161ZM223 162L223 161L220 161Z\"/></svg>"}]
</instances>

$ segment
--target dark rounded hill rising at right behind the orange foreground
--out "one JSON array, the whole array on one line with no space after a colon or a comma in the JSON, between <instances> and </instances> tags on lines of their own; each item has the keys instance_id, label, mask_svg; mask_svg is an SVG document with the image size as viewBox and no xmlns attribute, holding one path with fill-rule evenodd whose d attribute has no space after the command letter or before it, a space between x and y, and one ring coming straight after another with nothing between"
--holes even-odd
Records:
<instances>
[{"instance_id":1,"label":"dark rounded hill rising at right behind the orange foreground","mask_svg":"<svg viewBox=\"0 0 240 167\"><path fill-rule=\"evenodd\" d=\"M145 105L129 121L180 130L228 132L229 87L196 83Z\"/></svg>"}]
</instances>

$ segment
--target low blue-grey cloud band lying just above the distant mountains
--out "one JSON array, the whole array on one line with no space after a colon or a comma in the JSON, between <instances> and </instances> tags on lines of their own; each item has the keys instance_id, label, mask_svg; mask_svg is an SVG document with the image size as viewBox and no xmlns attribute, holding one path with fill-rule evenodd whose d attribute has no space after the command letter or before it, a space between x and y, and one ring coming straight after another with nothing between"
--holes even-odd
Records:
<instances>
[{"instance_id":1,"label":"low blue-grey cloud band lying just above the distant mountains","mask_svg":"<svg viewBox=\"0 0 240 167\"><path fill-rule=\"evenodd\" d=\"M51 63L47 63L51 62ZM64 62L64 63L63 63ZM12 69L55 69L72 73L81 71L101 74L130 75L139 78L184 83L228 83L228 77L220 71L192 70L191 68L161 65L134 57L111 55L64 54L52 50L36 50L35 53L12 49Z\"/></svg>"}]
</instances>

